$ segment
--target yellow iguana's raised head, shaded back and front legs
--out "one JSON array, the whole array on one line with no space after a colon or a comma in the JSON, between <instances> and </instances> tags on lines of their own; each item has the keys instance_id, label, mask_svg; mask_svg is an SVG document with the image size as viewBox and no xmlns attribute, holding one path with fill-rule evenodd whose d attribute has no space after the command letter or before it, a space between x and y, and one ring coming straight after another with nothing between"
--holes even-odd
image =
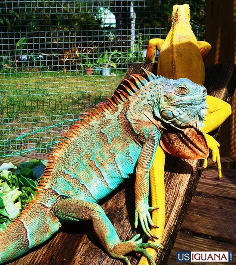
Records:
<instances>
[{"instance_id":1,"label":"yellow iguana's raised head, shaded back and front legs","mask_svg":"<svg viewBox=\"0 0 236 265\"><path fill-rule=\"evenodd\" d=\"M203 57L211 50L206 41L198 41L190 25L188 4L174 5L172 26L165 40L154 38L148 43L145 62L153 62L159 50L158 75L177 79L189 78L197 84L205 81Z\"/></svg>"}]
</instances>

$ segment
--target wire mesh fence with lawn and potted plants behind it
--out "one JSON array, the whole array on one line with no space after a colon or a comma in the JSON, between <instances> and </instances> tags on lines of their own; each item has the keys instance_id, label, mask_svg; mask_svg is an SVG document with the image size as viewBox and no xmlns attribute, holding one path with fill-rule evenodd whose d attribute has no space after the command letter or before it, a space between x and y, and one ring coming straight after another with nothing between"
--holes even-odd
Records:
<instances>
[{"instance_id":1,"label":"wire mesh fence with lawn and potted plants behind it","mask_svg":"<svg viewBox=\"0 0 236 265\"><path fill-rule=\"evenodd\" d=\"M171 9L172 1L1 1L0 156L52 151L144 61L148 40L165 38Z\"/></svg>"}]
</instances>

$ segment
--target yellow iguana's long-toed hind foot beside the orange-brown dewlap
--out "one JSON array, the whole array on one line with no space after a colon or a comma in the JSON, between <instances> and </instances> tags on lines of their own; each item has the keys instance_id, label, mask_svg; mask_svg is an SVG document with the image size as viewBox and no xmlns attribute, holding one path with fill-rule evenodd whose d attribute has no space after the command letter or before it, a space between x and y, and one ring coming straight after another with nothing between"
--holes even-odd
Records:
<instances>
[{"instance_id":1,"label":"yellow iguana's long-toed hind foot beside the orange-brown dewlap","mask_svg":"<svg viewBox=\"0 0 236 265\"><path fill-rule=\"evenodd\" d=\"M222 178L222 171L221 171L221 157L220 157L220 144L209 134L205 134L207 144L209 149L212 151L212 161L215 163L217 162L218 166L218 179ZM207 167L207 158L204 159L203 167Z\"/></svg>"}]
</instances>

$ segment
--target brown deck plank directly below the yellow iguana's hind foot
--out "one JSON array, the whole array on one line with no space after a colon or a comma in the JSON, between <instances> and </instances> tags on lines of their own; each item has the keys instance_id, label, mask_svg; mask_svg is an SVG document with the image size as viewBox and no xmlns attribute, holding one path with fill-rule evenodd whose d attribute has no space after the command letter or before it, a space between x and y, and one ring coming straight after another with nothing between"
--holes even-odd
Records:
<instances>
[{"instance_id":1,"label":"brown deck plank directly below the yellow iguana's hind foot","mask_svg":"<svg viewBox=\"0 0 236 265\"><path fill-rule=\"evenodd\" d=\"M217 168L208 167L202 173L197 191L236 199L236 170L222 170L222 179L217 180Z\"/></svg>"}]
</instances>

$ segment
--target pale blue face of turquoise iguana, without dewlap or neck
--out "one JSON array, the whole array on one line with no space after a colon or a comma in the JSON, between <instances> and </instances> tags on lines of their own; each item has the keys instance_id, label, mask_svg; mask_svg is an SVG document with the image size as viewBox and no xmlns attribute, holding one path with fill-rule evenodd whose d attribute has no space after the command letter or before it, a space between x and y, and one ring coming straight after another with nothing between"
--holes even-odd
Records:
<instances>
[{"instance_id":1,"label":"pale blue face of turquoise iguana, without dewlap or neck","mask_svg":"<svg viewBox=\"0 0 236 265\"><path fill-rule=\"evenodd\" d=\"M200 130L207 113L206 97L207 89L187 78L166 79L154 113L162 124L177 129L193 126Z\"/></svg>"}]
</instances>

